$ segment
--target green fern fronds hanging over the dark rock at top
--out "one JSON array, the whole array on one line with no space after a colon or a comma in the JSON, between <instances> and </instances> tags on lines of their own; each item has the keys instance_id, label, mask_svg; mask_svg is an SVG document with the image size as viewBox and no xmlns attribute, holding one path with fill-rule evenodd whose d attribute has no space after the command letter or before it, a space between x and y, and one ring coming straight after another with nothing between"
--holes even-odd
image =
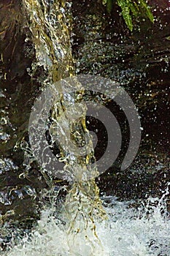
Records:
<instances>
[{"instance_id":1,"label":"green fern fronds hanging over the dark rock at top","mask_svg":"<svg viewBox=\"0 0 170 256\"><path fill-rule=\"evenodd\" d=\"M107 11L112 11L112 5L115 0L103 0L103 4L107 6ZM132 16L135 18L139 16L145 16L154 22L154 17L147 5L146 0L117 0L118 6L122 10L122 15L125 20L128 29L133 30Z\"/></svg>"}]
</instances>

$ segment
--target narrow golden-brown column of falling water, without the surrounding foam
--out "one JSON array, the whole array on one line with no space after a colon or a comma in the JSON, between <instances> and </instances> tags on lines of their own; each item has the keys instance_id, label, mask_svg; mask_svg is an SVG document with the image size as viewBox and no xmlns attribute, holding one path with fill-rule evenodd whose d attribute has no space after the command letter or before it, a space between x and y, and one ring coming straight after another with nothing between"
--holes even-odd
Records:
<instances>
[{"instance_id":1,"label":"narrow golden-brown column of falling water, without the surrounding foam","mask_svg":"<svg viewBox=\"0 0 170 256\"><path fill-rule=\"evenodd\" d=\"M47 86L52 86L58 80L74 75L70 43L72 31L70 7L71 4L63 0L23 0L23 12L27 17L26 26L31 31L31 39L36 51L36 60L32 65L33 72L38 67L43 68L39 81L44 89ZM53 140L62 136L60 134L62 130L65 140L69 140L69 135L72 134L75 145L84 146L88 141L85 156L74 156L72 149L66 151L60 147L60 159L65 164L64 171L67 176L74 176L74 180L72 179L70 182L71 188L66 195L63 208L67 241L73 255L79 255L78 253L81 252L82 245L78 242L79 237L84 238L87 243L87 255L106 255L97 236L95 225L96 219L102 221L106 218L106 214L102 208L95 179L88 180L88 176L86 176L86 173L90 171L98 173L96 165L93 165L93 170L90 170L90 163L95 161L95 157L91 136L85 127L87 108L83 104L81 109L71 108L72 113L69 116L66 115L66 110L68 108L70 110L72 102L80 101L84 94L81 84L76 80L75 84L77 84L78 94L74 94L71 99L66 99L62 87L58 86L60 99L53 105L51 114L53 123L50 124L50 135ZM73 121L72 116L77 113L80 118ZM56 132L57 127L59 127L58 132Z\"/></svg>"}]
</instances>

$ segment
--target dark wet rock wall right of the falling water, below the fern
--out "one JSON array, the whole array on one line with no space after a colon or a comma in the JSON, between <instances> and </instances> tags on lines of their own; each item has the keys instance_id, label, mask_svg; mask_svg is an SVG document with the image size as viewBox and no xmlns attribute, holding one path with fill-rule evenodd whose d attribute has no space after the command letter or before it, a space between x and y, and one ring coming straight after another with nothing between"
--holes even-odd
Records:
<instances>
[{"instance_id":1,"label":"dark wet rock wall right of the falling water, below the fern","mask_svg":"<svg viewBox=\"0 0 170 256\"><path fill-rule=\"evenodd\" d=\"M116 5L109 14L99 1L87 3L85 9L85 3L73 1L77 73L102 75L120 83L139 109L143 128L134 165L121 173L118 159L98 185L103 192L126 199L160 195L169 181L169 1L149 1L155 23L134 20L133 33L117 15Z\"/></svg>"}]
</instances>

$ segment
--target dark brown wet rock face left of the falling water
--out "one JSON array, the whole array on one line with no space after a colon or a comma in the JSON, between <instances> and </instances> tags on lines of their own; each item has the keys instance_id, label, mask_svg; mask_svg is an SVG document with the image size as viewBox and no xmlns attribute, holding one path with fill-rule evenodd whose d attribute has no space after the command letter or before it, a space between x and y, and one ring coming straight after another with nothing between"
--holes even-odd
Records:
<instances>
[{"instance_id":1,"label":"dark brown wet rock face left of the falling water","mask_svg":"<svg viewBox=\"0 0 170 256\"><path fill-rule=\"evenodd\" d=\"M29 178L26 177L21 149L28 141L29 113L39 91L39 83L28 74L35 54L31 40L26 39L27 34L21 2L1 1L0 214L15 208L17 219L36 215L32 199L39 187L46 186L44 181L38 182L37 168L32 167Z\"/></svg>"}]
</instances>

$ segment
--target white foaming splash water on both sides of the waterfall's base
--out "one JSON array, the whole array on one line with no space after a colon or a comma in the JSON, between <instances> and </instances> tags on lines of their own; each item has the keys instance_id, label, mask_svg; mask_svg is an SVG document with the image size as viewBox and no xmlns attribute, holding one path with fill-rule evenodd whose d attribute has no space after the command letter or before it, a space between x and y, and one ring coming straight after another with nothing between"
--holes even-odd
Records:
<instances>
[{"instance_id":1,"label":"white foaming splash water on both sides of the waterfall's base","mask_svg":"<svg viewBox=\"0 0 170 256\"><path fill-rule=\"evenodd\" d=\"M90 242L85 241L81 234L74 239L72 237L74 246L71 251L68 246L69 236L61 217L57 216L53 206L45 208L32 232L29 235L25 233L17 241L15 238L12 249L2 255L169 256L170 219L164 198L168 194L167 189L161 198L149 197L138 208L131 206L133 202L120 202L115 197L104 196L102 199L108 219L96 222L101 249L96 247L93 252Z\"/></svg>"}]
</instances>

